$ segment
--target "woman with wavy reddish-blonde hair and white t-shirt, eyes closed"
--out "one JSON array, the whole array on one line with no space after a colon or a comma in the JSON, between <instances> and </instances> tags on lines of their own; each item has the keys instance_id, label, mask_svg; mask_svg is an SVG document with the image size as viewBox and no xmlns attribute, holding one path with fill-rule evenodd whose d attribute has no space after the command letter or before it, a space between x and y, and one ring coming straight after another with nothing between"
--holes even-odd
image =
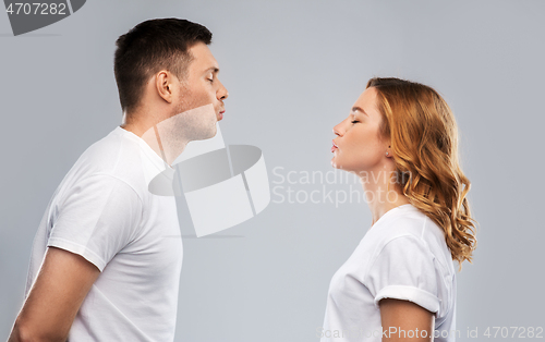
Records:
<instances>
[{"instance_id":1,"label":"woman with wavy reddish-blonde hair and white t-shirt, eyes closed","mask_svg":"<svg viewBox=\"0 0 545 342\"><path fill-rule=\"evenodd\" d=\"M331 279L322 341L455 341L452 261L471 262L476 239L450 108L372 78L334 133L331 164L360 176L373 224Z\"/></svg>"}]
</instances>

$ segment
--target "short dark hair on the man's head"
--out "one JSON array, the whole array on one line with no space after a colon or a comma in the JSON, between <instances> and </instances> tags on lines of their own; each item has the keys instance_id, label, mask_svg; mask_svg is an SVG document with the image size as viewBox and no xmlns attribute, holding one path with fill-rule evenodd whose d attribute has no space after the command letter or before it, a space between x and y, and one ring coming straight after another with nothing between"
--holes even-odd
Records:
<instances>
[{"instance_id":1,"label":"short dark hair on the man's head","mask_svg":"<svg viewBox=\"0 0 545 342\"><path fill-rule=\"evenodd\" d=\"M210 44L208 28L175 17L145 21L120 36L116 41L113 73L121 109L136 109L146 82L161 70L183 80L193 59L189 48L201 41Z\"/></svg>"}]
</instances>

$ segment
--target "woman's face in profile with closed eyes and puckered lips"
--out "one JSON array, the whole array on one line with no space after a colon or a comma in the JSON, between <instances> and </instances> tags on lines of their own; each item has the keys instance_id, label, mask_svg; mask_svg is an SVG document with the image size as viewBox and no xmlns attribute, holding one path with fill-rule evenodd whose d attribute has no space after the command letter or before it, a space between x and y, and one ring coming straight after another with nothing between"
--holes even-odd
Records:
<instances>
[{"instance_id":1,"label":"woman's face in profile with closed eyes and puckered lips","mask_svg":"<svg viewBox=\"0 0 545 342\"><path fill-rule=\"evenodd\" d=\"M365 89L355 101L347 119L334 127L331 166L337 169L360 173L384 169L383 164L391 155L388 142L380 139L377 91ZM389 152L386 156L386 152Z\"/></svg>"}]
</instances>

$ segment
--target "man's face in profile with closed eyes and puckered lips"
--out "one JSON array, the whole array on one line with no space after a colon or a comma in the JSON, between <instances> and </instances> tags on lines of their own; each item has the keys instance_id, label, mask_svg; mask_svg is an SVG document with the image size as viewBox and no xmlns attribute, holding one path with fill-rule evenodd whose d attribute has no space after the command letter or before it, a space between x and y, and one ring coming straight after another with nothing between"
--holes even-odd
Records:
<instances>
[{"instance_id":1,"label":"man's face in profile with closed eyes and puckered lips","mask_svg":"<svg viewBox=\"0 0 545 342\"><path fill-rule=\"evenodd\" d=\"M223 119L223 100L229 96L219 82L218 62L204 42L197 42L189 49L193 60L187 68L187 75L182 83L178 113L206 105L213 105L218 121Z\"/></svg>"}]
</instances>

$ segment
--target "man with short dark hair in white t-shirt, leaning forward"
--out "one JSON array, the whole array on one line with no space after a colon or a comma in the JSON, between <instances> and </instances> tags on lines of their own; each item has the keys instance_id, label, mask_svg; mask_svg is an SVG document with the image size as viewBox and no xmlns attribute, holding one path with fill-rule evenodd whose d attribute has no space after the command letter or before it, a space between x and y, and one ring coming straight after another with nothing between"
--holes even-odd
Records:
<instances>
[{"instance_id":1,"label":"man with short dark hair in white t-shirt, leaning forward","mask_svg":"<svg viewBox=\"0 0 545 342\"><path fill-rule=\"evenodd\" d=\"M145 172L170 162L142 136L198 108L222 119L228 93L210 40L206 27L178 19L141 23L117 40L124 123L92 145L53 194L9 341L173 340L182 265L175 200L152 194Z\"/></svg>"}]
</instances>

